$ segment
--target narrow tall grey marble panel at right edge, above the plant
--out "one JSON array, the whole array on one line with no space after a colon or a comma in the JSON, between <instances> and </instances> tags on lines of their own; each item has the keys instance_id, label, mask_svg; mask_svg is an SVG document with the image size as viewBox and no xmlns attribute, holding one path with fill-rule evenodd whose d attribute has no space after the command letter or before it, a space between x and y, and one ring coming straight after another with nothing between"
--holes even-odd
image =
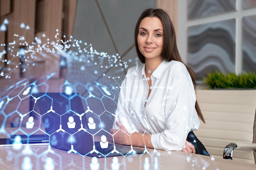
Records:
<instances>
[{"instance_id":1,"label":"narrow tall grey marble panel at right edge, above the plant","mask_svg":"<svg viewBox=\"0 0 256 170\"><path fill-rule=\"evenodd\" d=\"M256 15L245 16L243 23L243 72L256 72Z\"/></svg>"}]
</instances>

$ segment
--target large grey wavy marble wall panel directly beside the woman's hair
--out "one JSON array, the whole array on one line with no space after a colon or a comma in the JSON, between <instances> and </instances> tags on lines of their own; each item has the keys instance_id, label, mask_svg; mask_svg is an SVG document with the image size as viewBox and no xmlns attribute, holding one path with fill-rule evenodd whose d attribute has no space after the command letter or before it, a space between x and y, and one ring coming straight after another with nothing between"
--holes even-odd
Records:
<instances>
[{"instance_id":1,"label":"large grey wavy marble wall panel directly beside the woman's hair","mask_svg":"<svg viewBox=\"0 0 256 170\"><path fill-rule=\"evenodd\" d=\"M187 63L197 81L209 71L235 73L236 20L223 20L188 28Z\"/></svg>"}]
</instances>

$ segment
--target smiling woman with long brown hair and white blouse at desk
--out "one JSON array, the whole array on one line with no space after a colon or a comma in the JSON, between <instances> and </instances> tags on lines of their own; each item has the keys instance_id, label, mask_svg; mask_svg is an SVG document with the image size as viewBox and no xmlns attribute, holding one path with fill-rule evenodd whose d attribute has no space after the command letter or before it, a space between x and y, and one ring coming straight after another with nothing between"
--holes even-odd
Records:
<instances>
[{"instance_id":1,"label":"smiling woman with long brown hair and white blouse at desk","mask_svg":"<svg viewBox=\"0 0 256 170\"><path fill-rule=\"evenodd\" d=\"M121 85L110 129L113 141L195 153L193 141L186 141L199 128L199 118L204 122L195 98L195 74L182 62L173 24L164 10L147 9L141 14L135 46L143 64L130 68Z\"/></svg>"}]
</instances>

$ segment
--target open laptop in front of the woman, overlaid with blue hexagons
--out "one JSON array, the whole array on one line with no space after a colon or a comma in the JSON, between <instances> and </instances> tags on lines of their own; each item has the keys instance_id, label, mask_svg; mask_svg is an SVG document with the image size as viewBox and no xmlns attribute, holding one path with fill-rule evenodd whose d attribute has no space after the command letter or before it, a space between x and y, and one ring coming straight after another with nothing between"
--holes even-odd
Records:
<instances>
[{"instance_id":1,"label":"open laptop in front of the woman, overlaid with blue hexagons","mask_svg":"<svg viewBox=\"0 0 256 170\"><path fill-rule=\"evenodd\" d=\"M41 115L49 144L90 157L144 153L144 149L114 144L109 140L117 107L114 96L93 84L89 89L83 96L79 93L33 94L33 107L36 114Z\"/></svg>"}]
</instances>

